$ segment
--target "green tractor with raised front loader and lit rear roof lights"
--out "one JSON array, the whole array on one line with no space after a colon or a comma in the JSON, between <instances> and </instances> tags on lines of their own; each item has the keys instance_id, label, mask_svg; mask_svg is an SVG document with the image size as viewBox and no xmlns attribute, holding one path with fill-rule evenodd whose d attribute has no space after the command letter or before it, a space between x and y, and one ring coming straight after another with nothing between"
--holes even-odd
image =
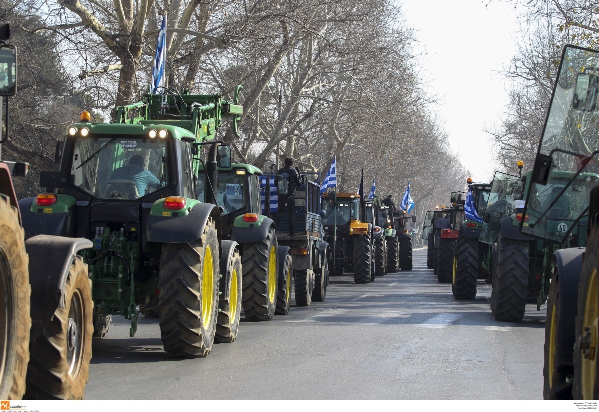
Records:
<instances>
[{"instance_id":1,"label":"green tractor with raised front loader and lit rear roof lights","mask_svg":"<svg viewBox=\"0 0 599 412\"><path fill-rule=\"evenodd\" d=\"M235 339L241 250L222 238L214 193L199 201L197 184L204 173L216 186L217 166L230 165L230 148L214 138L223 118L237 134L239 90L229 102L164 89L117 107L110 124L92 123L84 112L57 145L60 171L41 175L47 193L20 202L27 238L91 243L81 265L89 265L93 326L85 326L95 337L106 334L113 315L131 320L133 337L137 306L150 310L153 299L170 356L206 356L215 340Z\"/></svg>"}]
</instances>

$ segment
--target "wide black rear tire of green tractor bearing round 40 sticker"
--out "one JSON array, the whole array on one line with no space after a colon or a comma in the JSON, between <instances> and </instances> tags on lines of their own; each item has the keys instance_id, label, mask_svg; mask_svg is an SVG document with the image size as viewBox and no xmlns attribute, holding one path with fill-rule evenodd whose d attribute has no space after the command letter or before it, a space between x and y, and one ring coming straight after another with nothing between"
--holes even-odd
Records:
<instances>
[{"instance_id":1,"label":"wide black rear tire of green tractor bearing round 40 sticker","mask_svg":"<svg viewBox=\"0 0 599 412\"><path fill-rule=\"evenodd\" d=\"M525 240L499 235L491 286L491 311L495 320L520 322L524 317L528 284L528 247Z\"/></svg>"}]
</instances>

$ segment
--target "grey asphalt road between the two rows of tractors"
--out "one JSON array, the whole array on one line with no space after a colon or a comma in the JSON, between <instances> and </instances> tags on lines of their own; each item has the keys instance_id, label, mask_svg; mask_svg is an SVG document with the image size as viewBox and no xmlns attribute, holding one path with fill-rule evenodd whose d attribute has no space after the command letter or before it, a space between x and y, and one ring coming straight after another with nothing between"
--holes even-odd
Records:
<instances>
[{"instance_id":1,"label":"grey asphalt road between the two rows of tractors","mask_svg":"<svg viewBox=\"0 0 599 412\"><path fill-rule=\"evenodd\" d=\"M85 399L542 399L545 306L496 322L491 286L456 301L426 269L355 284L332 277L325 302L245 322L206 358L162 350L158 319L114 319L93 341Z\"/></svg>"}]
</instances>

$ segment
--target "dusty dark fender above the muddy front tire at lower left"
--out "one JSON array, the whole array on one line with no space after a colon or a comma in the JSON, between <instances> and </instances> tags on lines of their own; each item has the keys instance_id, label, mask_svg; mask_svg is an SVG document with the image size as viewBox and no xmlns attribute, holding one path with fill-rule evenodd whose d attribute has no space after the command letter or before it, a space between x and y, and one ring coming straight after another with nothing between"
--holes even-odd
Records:
<instances>
[{"instance_id":1,"label":"dusty dark fender above the muddy front tire at lower left","mask_svg":"<svg viewBox=\"0 0 599 412\"><path fill-rule=\"evenodd\" d=\"M65 283L75 255L92 247L85 238L37 235L25 241L31 283L31 340L40 337L56 308L65 307Z\"/></svg>"}]
</instances>

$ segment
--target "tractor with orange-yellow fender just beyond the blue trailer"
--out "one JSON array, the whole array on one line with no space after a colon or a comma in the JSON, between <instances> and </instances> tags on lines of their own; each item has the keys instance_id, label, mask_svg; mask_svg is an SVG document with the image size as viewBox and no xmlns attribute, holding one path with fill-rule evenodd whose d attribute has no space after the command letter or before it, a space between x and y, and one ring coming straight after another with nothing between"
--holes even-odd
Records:
<instances>
[{"instance_id":1,"label":"tractor with orange-yellow fender just beyond the blue trailer","mask_svg":"<svg viewBox=\"0 0 599 412\"><path fill-rule=\"evenodd\" d=\"M373 278L374 242L372 223L363 221L360 195L337 193L322 195L323 224L326 242L332 245L329 270L331 275L353 271L356 283L369 283Z\"/></svg>"}]
</instances>

